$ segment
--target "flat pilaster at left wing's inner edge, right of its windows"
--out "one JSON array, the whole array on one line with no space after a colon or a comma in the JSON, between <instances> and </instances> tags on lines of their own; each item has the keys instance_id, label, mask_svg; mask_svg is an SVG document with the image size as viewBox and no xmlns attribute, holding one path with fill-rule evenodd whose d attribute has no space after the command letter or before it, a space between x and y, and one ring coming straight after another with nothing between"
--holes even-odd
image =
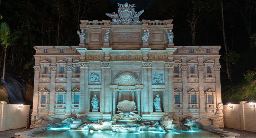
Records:
<instances>
[{"instance_id":1,"label":"flat pilaster at left wing's inner edge, right of its windows","mask_svg":"<svg viewBox=\"0 0 256 138\"><path fill-rule=\"evenodd\" d=\"M73 66L66 66L66 71L67 71L67 94L66 94L66 111L65 111L65 116L71 116L71 87L72 87L72 71L73 71Z\"/></svg>"}]
</instances>

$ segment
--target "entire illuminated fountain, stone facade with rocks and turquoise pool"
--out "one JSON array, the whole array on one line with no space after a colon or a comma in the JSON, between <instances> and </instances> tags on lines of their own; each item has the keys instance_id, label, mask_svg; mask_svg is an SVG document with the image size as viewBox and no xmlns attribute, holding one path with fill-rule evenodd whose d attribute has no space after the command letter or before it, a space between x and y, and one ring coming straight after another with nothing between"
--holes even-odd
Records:
<instances>
[{"instance_id":1,"label":"entire illuminated fountain, stone facade with rocks and turquoise pool","mask_svg":"<svg viewBox=\"0 0 256 138\"><path fill-rule=\"evenodd\" d=\"M15 137L234 135L220 129L221 47L174 46L172 20L143 12L118 4L111 20L81 20L78 46L34 46L33 129Z\"/></svg>"}]
</instances>

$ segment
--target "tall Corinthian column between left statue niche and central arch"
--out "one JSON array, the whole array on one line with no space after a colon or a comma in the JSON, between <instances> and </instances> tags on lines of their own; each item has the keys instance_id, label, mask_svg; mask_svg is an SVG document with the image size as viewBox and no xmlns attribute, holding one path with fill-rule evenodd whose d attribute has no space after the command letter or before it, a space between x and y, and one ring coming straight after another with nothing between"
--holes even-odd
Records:
<instances>
[{"instance_id":1,"label":"tall Corinthian column between left statue niche and central arch","mask_svg":"<svg viewBox=\"0 0 256 138\"><path fill-rule=\"evenodd\" d=\"M101 82L101 83L103 83L104 84L104 102L103 102L103 104L104 104L104 112L106 113L106 114L109 114L110 113L110 109L111 109L111 107L110 107L110 103L111 103L111 99L110 99L110 88L109 88L109 84L110 84L110 61L102 61L101 62L101 68L103 69L105 69L105 79L104 79L104 81L103 82Z\"/></svg>"}]
</instances>

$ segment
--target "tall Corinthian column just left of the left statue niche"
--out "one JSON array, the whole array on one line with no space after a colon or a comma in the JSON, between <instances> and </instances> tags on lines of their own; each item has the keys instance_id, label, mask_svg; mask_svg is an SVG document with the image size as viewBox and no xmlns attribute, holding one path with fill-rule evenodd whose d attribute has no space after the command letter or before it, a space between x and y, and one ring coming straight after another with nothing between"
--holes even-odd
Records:
<instances>
[{"instance_id":1,"label":"tall Corinthian column just left of the left statue niche","mask_svg":"<svg viewBox=\"0 0 256 138\"><path fill-rule=\"evenodd\" d=\"M89 62L83 61L79 62L80 66L80 96L79 96L79 114L84 114L86 111L86 102L88 99L85 98L85 95L88 95L88 92L85 93L85 70L88 70ZM86 88L88 91L88 88Z\"/></svg>"}]
</instances>

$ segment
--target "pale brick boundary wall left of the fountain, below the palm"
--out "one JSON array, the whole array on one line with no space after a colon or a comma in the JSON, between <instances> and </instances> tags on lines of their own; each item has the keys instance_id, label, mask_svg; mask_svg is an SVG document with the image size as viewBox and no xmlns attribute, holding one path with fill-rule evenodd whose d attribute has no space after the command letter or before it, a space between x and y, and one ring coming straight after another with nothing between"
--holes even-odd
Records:
<instances>
[{"instance_id":1,"label":"pale brick boundary wall left of the fountain, below the palm","mask_svg":"<svg viewBox=\"0 0 256 138\"><path fill-rule=\"evenodd\" d=\"M0 101L0 131L27 127L29 109L30 105L23 105L19 109L18 105Z\"/></svg>"}]
</instances>

